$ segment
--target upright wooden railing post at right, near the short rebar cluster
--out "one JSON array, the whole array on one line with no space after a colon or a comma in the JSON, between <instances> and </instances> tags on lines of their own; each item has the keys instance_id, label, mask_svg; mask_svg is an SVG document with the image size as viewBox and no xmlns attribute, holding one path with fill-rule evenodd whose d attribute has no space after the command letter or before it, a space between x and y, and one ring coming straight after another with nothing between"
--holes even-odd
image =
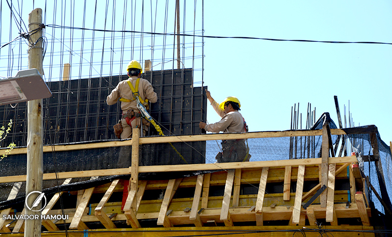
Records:
<instances>
[{"instance_id":1,"label":"upright wooden railing post at right, near the short rebar cluster","mask_svg":"<svg viewBox=\"0 0 392 237\"><path fill-rule=\"evenodd\" d=\"M328 123L324 123L322 126L322 142L321 142L321 186L328 186L328 158L329 158L329 140L327 132ZM321 207L327 206L327 193L328 189L321 193L320 204Z\"/></svg>"}]
</instances>

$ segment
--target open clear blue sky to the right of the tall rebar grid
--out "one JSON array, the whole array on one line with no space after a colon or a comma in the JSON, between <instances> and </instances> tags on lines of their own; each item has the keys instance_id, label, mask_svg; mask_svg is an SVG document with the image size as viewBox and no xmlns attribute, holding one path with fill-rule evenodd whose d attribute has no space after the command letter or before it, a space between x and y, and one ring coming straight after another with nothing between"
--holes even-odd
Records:
<instances>
[{"instance_id":1,"label":"open clear blue sky to the right of the tall rebar grid","mask_svg":"<svg viewBox=\"0 0 392 237\"><path fill-rule=\"evenodd\" d=\"M392 43L392 2L205 1L205 35ZM344 126L348 102L355 126L376 125L392 141L392 45L205 39L204 81L214 99L236 96L250 131L290 129L299 103ZM219 117L212 109L208 122Z\"/></svg>"}]
</instances>

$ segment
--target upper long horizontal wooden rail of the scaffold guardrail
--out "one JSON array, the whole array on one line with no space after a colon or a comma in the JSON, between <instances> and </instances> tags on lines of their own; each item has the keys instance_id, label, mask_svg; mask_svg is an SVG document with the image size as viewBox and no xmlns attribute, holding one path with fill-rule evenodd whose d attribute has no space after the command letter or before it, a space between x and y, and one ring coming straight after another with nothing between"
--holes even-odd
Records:
<instances>
[{"instance_id":1,"label":"upper long horizontal wooden rail of the scaffold guardrail","mask_svg":"<svg viewBox=\"0 0 392 237\"><path fill-rule=\"evenodd\" d=\"M342 135L342 134L360 134L369 133L368 130L355 130L352 129L331 129L331 134ZM372 131L370 131L372 132ZM296 130L296 131L276 131L276 132L244 132L244 133L209 133L201 135L180 135L180 136L158 136L158 137L141 137L139 139L140 144L149 143L168 143L168 142L189 142L189 141L210 141L210 140L226 140L226 139L246 139L246 138L264 138L264 137L287 137L287 136L319 136L322 135L321 130ZM73 145L54 145L44 146L44 152L55 151L72 151L72 150L84 150L104 147L118 147L118 146L130 146L132 140L120 140L120 141L109 141L109 142L98 142L89 144L73 144ZM26 148L14 148L10 155L15 154L26 154ZM5 154L5 150L0 150L0 155Z\"/></svg>"}]
</instances>

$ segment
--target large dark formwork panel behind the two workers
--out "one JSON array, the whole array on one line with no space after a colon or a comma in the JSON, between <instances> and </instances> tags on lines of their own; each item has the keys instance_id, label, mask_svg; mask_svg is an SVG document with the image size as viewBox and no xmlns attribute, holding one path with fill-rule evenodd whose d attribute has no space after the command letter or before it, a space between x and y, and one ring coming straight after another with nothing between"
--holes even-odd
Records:
<instances>
[{"instance_id":1,"label":"large dark formwork panel behind the two workers","mask_svg":"<svg viewBox=\"0 0 392 237\"><path fill-rule=\"evenodd\" d=\"M165 135L199 134L200 121L206 120L207 98L202 87L193 87L193 70L152 71L143 75L151 82L158 102L150 114ZM126 75L92 79L48 82L53 96L43 100L44 144L63 144L92 140L117 139L113 125L121 118L120 103L106 105L106 97ZM0 106L0 125L10 119L13 127L0 147L14 142L27 144L27 103L15 108ZM147 135L158 135L151 126Z\"/></svg>"}]
</instances>

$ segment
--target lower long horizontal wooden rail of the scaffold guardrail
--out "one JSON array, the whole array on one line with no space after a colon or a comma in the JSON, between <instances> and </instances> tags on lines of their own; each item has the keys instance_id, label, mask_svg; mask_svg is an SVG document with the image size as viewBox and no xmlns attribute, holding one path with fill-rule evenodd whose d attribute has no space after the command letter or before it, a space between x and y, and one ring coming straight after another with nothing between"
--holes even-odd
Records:
<instances>
[{"instance_id":1,"label":"lower long horizontal wooden rail of the scaffold guardrail","mask_svg":"<svg viewBox=\"0 0 392 237\"><path fill-rule=\"evenodd\" d=\"M346 163L358 162L355 156L351 157L334 157L329 158L329 163ZM148 172L174 172L174 171L197 171L197 170L217 170L217 169L237 169L237 168L262 168L278 167L286 165L314 165L321 164L321 158L311 159L288 159L288 160L270 160L270 161L251 161L251 162L227 162L220 163L219 167L215 164L178 164L178 165L151 165L140 166L139 173ZM83 178L92 176L112 176L130 174L129 168L120 169L102 169L102 170L85 170L57 173L58 179ZM43 180L55 180L55 173L44 174ZM26 181L25 175L3 176L0 177L0 183L14 183Z\"/></svg>"}]
</instances>

